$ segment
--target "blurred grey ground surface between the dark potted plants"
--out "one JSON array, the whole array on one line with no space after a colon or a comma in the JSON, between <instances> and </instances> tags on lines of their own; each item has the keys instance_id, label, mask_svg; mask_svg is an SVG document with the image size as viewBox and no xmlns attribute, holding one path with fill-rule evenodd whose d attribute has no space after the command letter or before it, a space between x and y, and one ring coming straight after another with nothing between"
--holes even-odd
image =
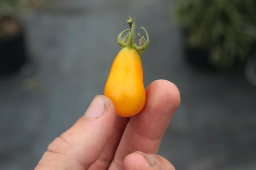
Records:
<instances>
[{"instance_id":1,"label":"blurred grey ground surface between the dark potted plants","mask_svg":"<svg viewBox=\"0 0 256 170\"><path fill-rule=\"evenodd\" d=\"M103 94L120 50L117 34L131 15L151 38L141 56L145 86L167 79L181 93L159 154L177 170L255 170L256 87L242 70L187 65L171 11L169 0L62 0L27 15L32 64L0 78L0 169L33 169L47 145Z\"/></svg>"}]
</instances>

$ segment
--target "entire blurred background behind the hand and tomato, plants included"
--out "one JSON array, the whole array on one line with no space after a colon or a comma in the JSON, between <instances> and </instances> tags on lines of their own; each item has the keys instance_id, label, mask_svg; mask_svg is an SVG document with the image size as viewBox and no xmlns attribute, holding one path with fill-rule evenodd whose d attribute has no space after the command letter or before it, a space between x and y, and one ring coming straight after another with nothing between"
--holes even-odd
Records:
<instances>
[{"instance_id":1,"label":"entire blurred background behind the hand and tomato, plants included","mask_svg":"<svg viewBox=\"0 0 256 170\"><path fill-rule=\"evenodd\" d=\"M256 169L255 0L0 0L0 169L28 170L103 94L129 16L145 87L181 104L159 154L177 170Z\"/></svg>"}]
</instances>

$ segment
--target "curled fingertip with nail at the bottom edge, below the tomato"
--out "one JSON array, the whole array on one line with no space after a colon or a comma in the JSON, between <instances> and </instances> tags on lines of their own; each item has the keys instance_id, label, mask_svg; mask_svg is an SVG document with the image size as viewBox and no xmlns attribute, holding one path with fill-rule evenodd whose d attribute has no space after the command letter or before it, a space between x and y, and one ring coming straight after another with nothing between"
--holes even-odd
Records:
<instances>
[{"instance_id":1,"label":"curled fingertip with nail at the bottom edge, below the tomato","mask_svg":"<svg viewBox=\"0 0 256 170\"><path fill-rule=\"evenodd\" d=\"M134 152L124 159L125 170L175 170L165 158L156 154Z\"/></svg>"}]
</instances>

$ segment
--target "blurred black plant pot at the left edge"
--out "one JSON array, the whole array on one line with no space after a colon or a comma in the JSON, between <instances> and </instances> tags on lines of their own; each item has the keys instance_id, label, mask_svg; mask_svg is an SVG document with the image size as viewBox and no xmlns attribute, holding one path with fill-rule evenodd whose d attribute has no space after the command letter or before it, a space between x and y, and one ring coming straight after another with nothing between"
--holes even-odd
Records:
<instances>
[{"instance_id":1,"label":"blurred black plant pot at the left edge","mask_svg":"<svg viewBox=\"0 0 256 170\"><path fill-rule=\"evenodd\" d=\"M12 74L28 61L23 31L0 38L0 74Z\"/></svg>"}]
</instances>

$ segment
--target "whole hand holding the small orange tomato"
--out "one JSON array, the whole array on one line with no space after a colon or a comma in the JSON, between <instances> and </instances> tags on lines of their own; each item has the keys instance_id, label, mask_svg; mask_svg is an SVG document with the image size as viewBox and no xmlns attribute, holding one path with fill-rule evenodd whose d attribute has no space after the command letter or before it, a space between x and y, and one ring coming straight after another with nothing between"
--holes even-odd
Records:
<instances>
[{"instance_id":1,"label":"whole hand holding the small orange tomato","mask_svg":"<svg viewBox=\"0 0 256 170\"><path fill-rule=\"evenodd\" d=\"M84 116L49 144L35 170L175 170L157 151L179 105L176 85L156 80L146 89L145 107L126 118L126 126L111 100L97 95Z\"/></svg>"}]
</instances>

